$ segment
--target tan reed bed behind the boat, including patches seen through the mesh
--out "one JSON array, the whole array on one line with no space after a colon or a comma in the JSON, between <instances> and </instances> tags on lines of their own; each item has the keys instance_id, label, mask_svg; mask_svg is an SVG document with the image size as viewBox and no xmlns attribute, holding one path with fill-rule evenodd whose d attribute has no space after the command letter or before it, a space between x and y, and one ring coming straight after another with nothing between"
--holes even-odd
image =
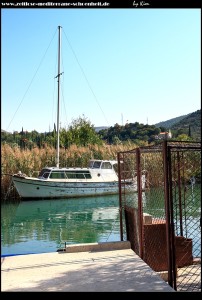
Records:
<instances>
[{"instance_id":1,"label":"tan reed bed behind the boat, including patches seen through the mesh","mask_svg":"<svg viewBox=\"0 0 202 300\"><path fill-rule=\"evenodd\" d=\"M111 159L117 160L119 152L134 150L140 145L135 145L130 141L125 144L117 145L89 145L87 147L71 145L68 149L60 149L60 167L87 167L90 159ZM141 145L145 146L145 145ZM130 171L134 171L135 154L125 154ZM148 152L141 154L142 168L147 173L147 185L152 187L163 186L164 169L161 152ZM185 154L184 154L185 155ZM184 160L183 174L181 178L189 183L190 177L194 176L200 180L200 153L187 153ZM12 175L21 171L27 176L37 177L43 167L55 166L55 148L45 146L44 148L33 148L22 150L18 146L2 145L1 150L1 200L7 198L16 199L18 196L12 185ZM131 169L132 168L132 169Z\"/></svg>"}]
</instances>

